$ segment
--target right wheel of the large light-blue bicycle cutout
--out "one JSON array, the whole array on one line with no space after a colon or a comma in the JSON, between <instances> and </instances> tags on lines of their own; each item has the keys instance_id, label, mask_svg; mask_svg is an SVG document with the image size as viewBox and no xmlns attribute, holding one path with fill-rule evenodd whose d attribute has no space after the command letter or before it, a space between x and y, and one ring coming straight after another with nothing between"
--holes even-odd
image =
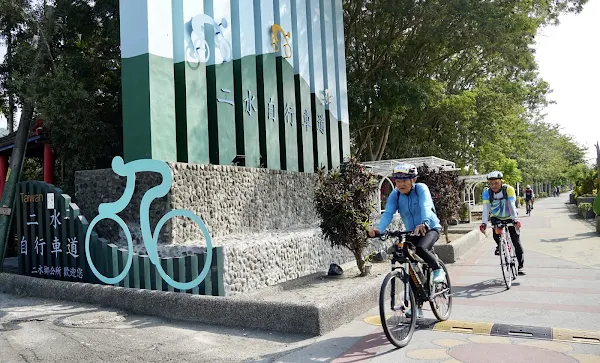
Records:
<instances>
[{"instance_id":1,"label":"right wheel of the large light-blue bicycle cutout","mask_svg":"<svg viewBox=\"0 0 600 363\"><path fill-rule=\"evenodd\" d=\"M198 277L196 277L192 281L179 282L179 281L175 281L171 276L169 276L165 272L165 270L162 268L160 263L155 263L155 266L156 266L156 269L157 269L158 273L160 274L160 276L169 285L173 286L176 289L179 289L180 291L191 290L194 287L200 285L200 283L202 281L204 281L204 279L206 278L206 275L208 275L208 272L210 271L210 267L211 267L211 263L212 263L212 255L213 255L212 239L210 237L210 233L208 233L208 228L206 228L206 225L204 224L204 222L202 222L202 219L200 219L200 217L198 217L196 214L194 214L188 210L184 210L184 209L175 209L175 210L172 210L169 213L165 214L160 219L160 221L158 221L158 223L156 224L156 228L154 229L154 234L152 236L152 244L150 245L146 242L146 250L148 252L148 256L150 257L151 261L153 259L155 261L158 261L158 237L160 236L160 231L161 231L162 227L165 225L165 223L173 217L189 218L194 223L196 223L198 225L198 227L200 228L200 230L202 231L202 234L204 235L204 240L206 241L206 259L204 260L204 267L202 268L202 271L198 274Z\"/></svg>"}]
</instances>

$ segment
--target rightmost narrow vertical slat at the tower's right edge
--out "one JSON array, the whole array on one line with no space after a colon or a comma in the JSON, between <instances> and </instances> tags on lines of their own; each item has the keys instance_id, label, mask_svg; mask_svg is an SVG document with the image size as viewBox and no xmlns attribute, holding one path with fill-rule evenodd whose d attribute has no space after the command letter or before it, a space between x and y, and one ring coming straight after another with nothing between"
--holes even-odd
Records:
<instances>
[{"instance_id":1,"label":"rightmost narrow vertical slat at the tower's right edge","mask_svg":"<svg viewBox=\"0 0 600 363\"><path fill-rule=\"evenodd\" d=\"M334 47L335 53L335 67L336 67L336 81L338 88L337 107L339 115L339 126L340 126L340 149L342 150L341 157L350 156L350 116L348 115L348 83L346 80L346 49L344 43L344 9L342 6L342 0L334 1L334 22L335 27L333 28L334 39L336 40L336 46Z\"/></svg>"}]
</instances>

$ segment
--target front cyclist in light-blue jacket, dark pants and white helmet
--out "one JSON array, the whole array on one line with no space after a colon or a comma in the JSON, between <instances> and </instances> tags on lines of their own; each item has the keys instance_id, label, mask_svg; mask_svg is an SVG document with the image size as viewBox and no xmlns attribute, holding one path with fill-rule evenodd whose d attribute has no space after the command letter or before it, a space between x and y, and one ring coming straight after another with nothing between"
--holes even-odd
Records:
<instances>
[{"instance_id":1,"label":"front cyclist in light-blue jacket, dark pants and white helmet","mask_svg":"<svg viewBox=\"0 0 600 363\"><path fill-rule=\"evenodd\" d=\"M369 230L369 236L375 237L387 228L394 213L400 212L402 222L407 231L413 231L411 241L416 247L416 253L432 269L434 283L446 280L446 273L438 263L437 257L431 252L431 247L440 237L440 220L435 214L435 206L427 185L417 183L417 167L412 164L398 164L394 168L392 179L396 185L388 197L385 211L376 229ZM418 317L423 316L421 307Z\"/></svg>"}]
</instances>

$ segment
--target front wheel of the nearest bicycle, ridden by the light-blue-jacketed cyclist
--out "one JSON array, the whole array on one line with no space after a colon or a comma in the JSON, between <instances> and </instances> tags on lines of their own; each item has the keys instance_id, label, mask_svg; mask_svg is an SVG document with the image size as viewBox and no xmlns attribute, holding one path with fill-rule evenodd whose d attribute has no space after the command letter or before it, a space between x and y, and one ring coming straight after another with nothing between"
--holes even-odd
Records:
<instances>
[{"instance_id":1,"label":"front wheel of the nearest bicycle, ridden by the light-blue-jacketed cyclist","mask_svg":"<svg viewBox=\"0 0 600 363\"><path fill-rule=\"evenodd\" d=\"M379 292L379 318L383 332L390 343L398 348L403 348L410 342L417 326L417 303L410 287L409 306L404 302L404 290L407 287L403 281L404 277L403 269L388 273ZM409 311L410 316L407 317L406 313Z\"/></svg>"}]
</instances>

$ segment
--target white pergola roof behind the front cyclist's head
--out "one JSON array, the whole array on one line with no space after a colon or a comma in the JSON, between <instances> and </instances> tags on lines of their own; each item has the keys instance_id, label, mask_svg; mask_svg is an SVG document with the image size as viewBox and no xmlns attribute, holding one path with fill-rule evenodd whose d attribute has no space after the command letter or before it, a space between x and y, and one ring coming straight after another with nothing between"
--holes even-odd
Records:
<instances>
[{"instance_id":1,"label":"white pergola roof behind the front cyclist's head","mask_svg":"<svg viewBox=\"0 0 600 363\"><path fill-rule=\"evenodd\" d=\"M371 173L381 177L381 180L379 181L379 193L377 193L377 202L379 203L379 206L381 206L381 187L387 181L392 189L394 188L394 183L390 179L390 176L394 173L394 167L400 163L410 163L417 167L427 165L436 170L442 168L443 171L460 170L456 168L456 163L435 156L363 162L361 165L369 168ZM383 210L381 210L381 212L383 212Z\"/></svg>"}]
</instances>

